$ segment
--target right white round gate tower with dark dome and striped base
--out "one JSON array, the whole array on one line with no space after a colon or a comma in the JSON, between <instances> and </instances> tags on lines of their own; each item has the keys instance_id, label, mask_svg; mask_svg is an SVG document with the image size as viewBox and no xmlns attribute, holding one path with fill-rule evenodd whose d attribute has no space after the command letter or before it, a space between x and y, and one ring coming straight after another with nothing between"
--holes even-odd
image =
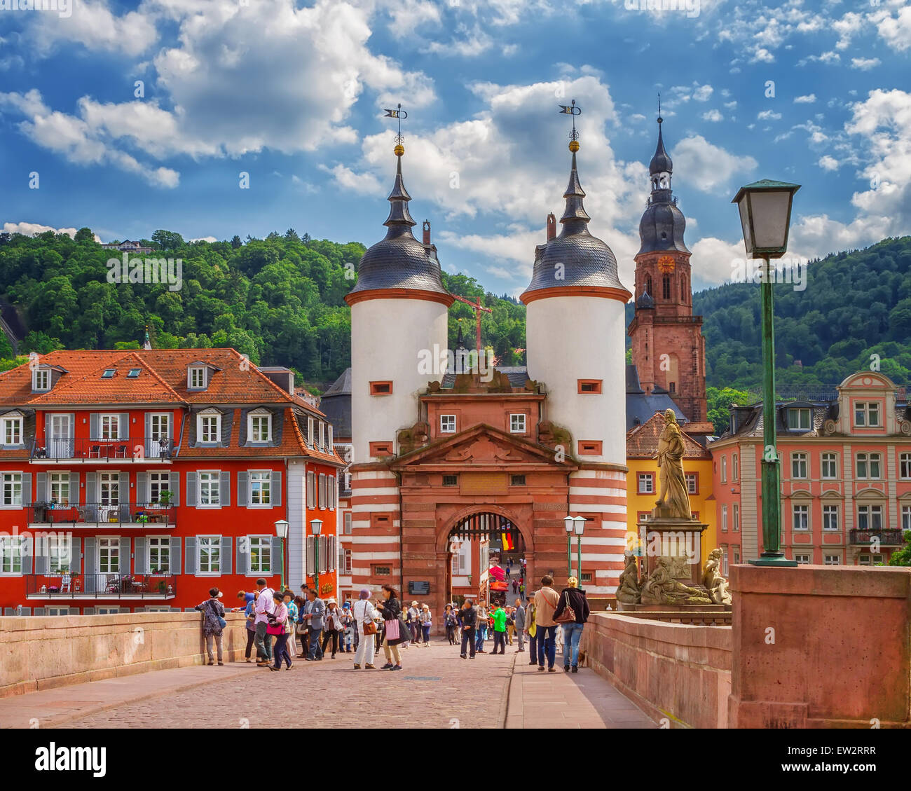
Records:
<instances>
[{"instance_id":1,"label":"right white round gate tower with dark dome and striped base","mask_svg":"<svg viewBox=\"0 0 911 791\"><path fill-rule=\"evenodd\" d=\"M569 144L572 168L564 198L563 230L535 251L527 305L528 375L547 386L546 419L567 429L569 513L584 515L583 587L616 590L626 536L626 329L630 292L619 282L617 259L589 233L585 192L578 180L578 141Z\"/></svg>"}]
</instances>

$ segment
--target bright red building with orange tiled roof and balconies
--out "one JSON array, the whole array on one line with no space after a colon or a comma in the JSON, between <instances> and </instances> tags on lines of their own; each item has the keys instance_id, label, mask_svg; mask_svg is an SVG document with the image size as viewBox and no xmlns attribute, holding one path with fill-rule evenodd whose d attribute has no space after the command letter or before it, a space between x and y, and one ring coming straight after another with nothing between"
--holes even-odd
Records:
<instances>
[{"instance_id":1,"label":"bright red building with orange tiled roof and balconies","mask_svg":"<svg viewBox=\"0 0 911 791\"><path fill-rule=\"evenodd\" d=\"M185 610L213 585L233 606L261 576L312 586L317 550L333 594L342 466L287 368L233 349L38 356L0 375L3 614Z\"/></svg>"}]
</instances>

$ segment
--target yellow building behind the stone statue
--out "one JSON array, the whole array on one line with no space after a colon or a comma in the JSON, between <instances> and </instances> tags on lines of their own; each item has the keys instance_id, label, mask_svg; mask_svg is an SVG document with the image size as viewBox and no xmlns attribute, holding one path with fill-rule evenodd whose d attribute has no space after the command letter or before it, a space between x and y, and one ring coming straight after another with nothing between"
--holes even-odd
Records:
<instances>
[{"instance_id":1,"label":"yellow building behind the stone statue","mask_svg":"<svg viewBox=\"0 0 911 791\"><path fill-rule=\"evenodd\" d=\"M645 423L633 426L627 432L627 531L638 536L637 522L651 513L658 498L658 439L664 430L664 418L656 412ZM715 498L712 494L713 479L711 453L685 432L683 443L686 455L683 457L683 472L690 489L690 508L692 515L708 524L702 533L700 548L700 566L705 563L708 553L718 544L717 525L715 522ZM631 538L635 542L635 538ZM635 544L630 544L630 547Z\"/></svg>"}]
</instances>

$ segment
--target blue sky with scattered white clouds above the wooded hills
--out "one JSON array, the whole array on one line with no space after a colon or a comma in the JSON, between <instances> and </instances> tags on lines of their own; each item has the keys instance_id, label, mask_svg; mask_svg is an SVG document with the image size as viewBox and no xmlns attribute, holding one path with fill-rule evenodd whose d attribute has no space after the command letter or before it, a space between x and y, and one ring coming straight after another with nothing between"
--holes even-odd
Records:
<instances>
[{"instance_id":1,"label":"blue sky with scattered white clouds above the wooded hills","mask_svg":"<svg viewBox=\"0 0 911 791\"><path fill-rule=\"evenodd\" d=\"M743 257L753 180L803 185L794 257L911 232L907 3L32 2L0 0L5 231L369 246L401 102L415 221L446 271L517 295L562 212L575 98L589 230L631 290L660 93L694 289Z\"/></svg>"}]
</instances>

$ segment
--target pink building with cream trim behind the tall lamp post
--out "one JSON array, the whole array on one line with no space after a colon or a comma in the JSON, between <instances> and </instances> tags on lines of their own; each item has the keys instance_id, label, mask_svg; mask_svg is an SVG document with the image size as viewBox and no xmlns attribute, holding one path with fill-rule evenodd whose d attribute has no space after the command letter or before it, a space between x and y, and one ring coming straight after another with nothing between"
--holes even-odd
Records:
<instances>
[{"instance_id":1,"label":"pink building with cream trim behind the tall lamp post","mask_svg":"<svg viewBox=\"0 0 911 791\"><path fill-rule=\"evenodd\" d=\"M879 373L835 389L776 404L782 549L800 563L886 563L911 529L911 409ZM730 428L711 444L724 573L763 551L762 455L763 405L732 407Z\"/></svg>"}]
</instances>

